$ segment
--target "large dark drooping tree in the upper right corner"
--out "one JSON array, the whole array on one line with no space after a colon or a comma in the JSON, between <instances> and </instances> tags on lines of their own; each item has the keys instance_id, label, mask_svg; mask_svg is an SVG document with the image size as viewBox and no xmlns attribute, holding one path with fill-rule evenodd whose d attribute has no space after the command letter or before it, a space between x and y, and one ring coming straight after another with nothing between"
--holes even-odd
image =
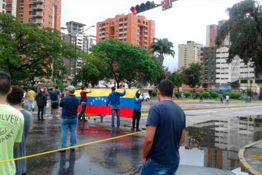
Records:
<instances>
[{"instance_id":1,"label":"large dark drooping tree in the upper right corner","mask_svg":"<svg viewBox=\"0 0 262 175\"><path fill-rule=\"evenodd\" d=\"M244 0L228 8L229 20L219 29L216 45L229 36L229 58L239 56L245 64L254 63L256 75L262 70L262 6L258 1Z\"/></svg>"}]
</instances>

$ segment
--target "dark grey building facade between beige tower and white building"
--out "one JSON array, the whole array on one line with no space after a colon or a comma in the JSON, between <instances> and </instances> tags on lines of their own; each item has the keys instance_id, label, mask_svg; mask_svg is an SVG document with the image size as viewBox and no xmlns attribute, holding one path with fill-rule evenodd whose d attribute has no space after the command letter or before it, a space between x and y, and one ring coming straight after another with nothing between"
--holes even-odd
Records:
<instances>
[{"instance_id":1,"label":"dark grey building facade between beige tower and white building","mask_svg":"<svg viewBox=\"0 0 262 175\"><path fill-rule=\"evenodd\" d=\"M215 47L202 47L201 58L203 60L203 87L207 88L215 84L216 75L216 48Z\"/></svg>"}]
</instances>

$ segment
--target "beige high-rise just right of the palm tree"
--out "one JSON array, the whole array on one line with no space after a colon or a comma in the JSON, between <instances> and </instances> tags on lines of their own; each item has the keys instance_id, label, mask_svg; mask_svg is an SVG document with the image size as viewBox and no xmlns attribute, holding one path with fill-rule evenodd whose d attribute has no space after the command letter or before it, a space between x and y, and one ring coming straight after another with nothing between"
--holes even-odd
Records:
<instances>
[{"instance_id":1,"label":"beige high-rise just right of the palm tree","mask_svg":"<svg viewBox=\"0 0 262 175\"><path fill-rule=\"evenodd\" d=\"M178 69L189 67L193 62L200 62L200 49L203 45L188 41L178 45Z\"/></svg>"}]
</instances>

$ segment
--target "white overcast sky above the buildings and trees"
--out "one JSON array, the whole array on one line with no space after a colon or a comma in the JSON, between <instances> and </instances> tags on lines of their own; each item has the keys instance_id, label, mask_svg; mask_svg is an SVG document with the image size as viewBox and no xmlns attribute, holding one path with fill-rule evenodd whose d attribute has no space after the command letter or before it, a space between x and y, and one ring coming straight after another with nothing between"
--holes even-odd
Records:
<instances>
[{"instance_id":1,"label":"white overcast sky above the buildings and trees","mask_svg":"<svg viewBox=\"0 0 262 175\"><path fill-rule=\"evenodd\" d=\"M96 26L96 22L104 21L106 18L131 13L131 6L146 1L62 0L62 26L68 21L84 23L86 28ZM164 64L174 71L178 64L178 44L193 40L205 46L206 26L227 19L226 9L239 1L241 0L178 0L173 2L172 9L161 11L161 7L158 7L140 15L156 21L156 38L168 38L173 43L175 58L166 57ZM160 2L161 0L154 1L155 4ZM96 29L87 30L86 34L96 35Z\"/></svg>"}]
</instances>

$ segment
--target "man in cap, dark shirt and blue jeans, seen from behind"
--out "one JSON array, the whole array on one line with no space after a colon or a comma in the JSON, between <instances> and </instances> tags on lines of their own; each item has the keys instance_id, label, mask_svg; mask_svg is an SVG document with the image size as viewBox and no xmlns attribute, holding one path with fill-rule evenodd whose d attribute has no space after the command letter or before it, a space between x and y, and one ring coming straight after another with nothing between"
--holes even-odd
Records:
<instances>
[{"instance_id":1,"label":"man in cap, dark shirt and blue jeans, seen from behind","mask_svg":"<svg viewBox=\"0 0 262 175\"><path fill-rule=\"evenodd\" d=\"M59 106L62 108L61 120L61 148L67 147L67 132L71 132L70 146L76 145L76 124L77 124L77 108L79 106L79 99L74 96L74 86L68 86L67 96L64 97ZM71 149L74 151L74 149ZM65 152L65 151L62 151Z\"/></svg>"}]
</instances>

